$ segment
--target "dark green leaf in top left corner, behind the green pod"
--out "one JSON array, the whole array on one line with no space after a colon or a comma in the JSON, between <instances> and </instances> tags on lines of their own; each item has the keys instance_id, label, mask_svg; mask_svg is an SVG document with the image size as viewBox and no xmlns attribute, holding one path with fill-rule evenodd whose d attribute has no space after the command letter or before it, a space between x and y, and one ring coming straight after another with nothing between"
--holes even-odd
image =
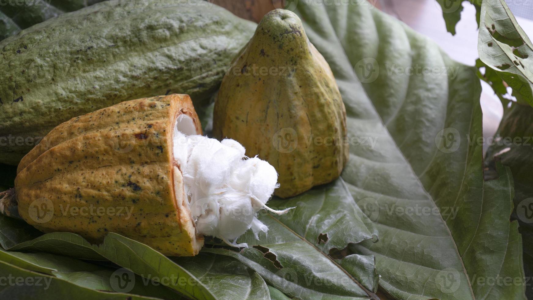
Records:
<instances>
[{"instance_id":1,"label":"dark green leaf in top left corner, behind the green pod","mask_svg":"<svg viewBox=\"0 0 533 300\"><path fill-rule=\"evenodd\" d=\"M64 12L103 0L6 1L0 5L0 40Z\"/></svg>"}]
</instances>

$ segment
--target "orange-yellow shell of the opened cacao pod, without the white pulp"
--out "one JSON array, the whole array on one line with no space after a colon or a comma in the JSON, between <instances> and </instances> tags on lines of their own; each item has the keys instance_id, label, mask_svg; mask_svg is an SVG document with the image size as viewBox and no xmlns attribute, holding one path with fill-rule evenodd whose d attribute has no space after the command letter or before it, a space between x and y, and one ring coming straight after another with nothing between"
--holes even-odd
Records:
<instances>
[{"instance_id":1,"label":"orange-yellow shell of the opened cacao pod, without the white pulp","mask_svg":"<svg viewBox=\"0 0 533 300\"><path fill-rule=\"evenodd\" d=\"M177 94L122 102L55 127L18 167L19 215L44 232L94 242L116 232L166 255L197 254L204 239L173 157L182 113L201 134L189 96Z\"/></svg>"}]
</instances>

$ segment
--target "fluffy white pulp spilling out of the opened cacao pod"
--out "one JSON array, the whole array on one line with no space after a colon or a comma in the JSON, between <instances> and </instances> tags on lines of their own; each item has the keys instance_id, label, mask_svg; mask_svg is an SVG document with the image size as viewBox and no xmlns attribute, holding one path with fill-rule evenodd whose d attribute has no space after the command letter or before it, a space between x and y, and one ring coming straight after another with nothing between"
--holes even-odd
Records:
<instances>
[{"instance_id":1,"label":"fluffy white pulp spilling out of the opened cacao pod","mask_svg":"<svg viewBox=\"0 0 533 300\"><path fill-rule=\"evenodd\" d=\"M196 135L192 119L177 117L174 128L174 159L183 175L196 230L204 236L235 244L241 234L252 229L257 237L268 228L257 220L262 209L277 214L265 204L272 196L278 174L274 167L257 157L247 158L244 147L235 140L221 142ZM230 242L231 241L231 242Z\"/></svg>"}]
</instances>

